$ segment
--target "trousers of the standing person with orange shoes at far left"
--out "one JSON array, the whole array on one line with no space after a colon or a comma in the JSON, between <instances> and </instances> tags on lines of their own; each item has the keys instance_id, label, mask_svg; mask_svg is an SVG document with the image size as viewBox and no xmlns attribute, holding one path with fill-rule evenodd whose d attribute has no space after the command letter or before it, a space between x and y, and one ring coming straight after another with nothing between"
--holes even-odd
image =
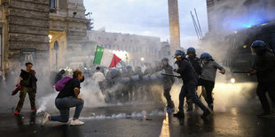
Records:
<instances>
[{"instance_id":1,"label":"trousers of the standing person with orange shoes at far left","mask_svg":"<svg viewBox=\"0 0 275 137\"><path fill-rule=\"evenodd\" d=\"M25 102L25 97L28 94L30 106L32 109L35 109L35 90L33 88L23 87L22 91L20 91L20 101L17 103L16 110L20 111Z\"/></svg>"}]
</instances>

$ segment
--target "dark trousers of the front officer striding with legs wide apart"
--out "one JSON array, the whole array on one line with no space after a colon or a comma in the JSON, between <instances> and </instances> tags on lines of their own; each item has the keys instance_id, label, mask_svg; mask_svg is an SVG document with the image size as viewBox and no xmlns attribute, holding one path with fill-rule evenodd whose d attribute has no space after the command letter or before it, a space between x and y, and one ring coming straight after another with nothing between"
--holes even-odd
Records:
<instances>
[{"instance_id":1,"label":"dark trousers of the front officer striding with legs wide apart","mask_svg":"<svg viewBox=\"0 0 275 137\"><path fill-rule=\"evenodd\" d=\"M207 111L208 108L200 102L200 99L195 94L197 88L197 82L194 81L188 81L185 82L183 87L181 88L180 94L179 94L179 105L178 110L184 112L184 104L185 104L185 96L190 95L193 103L195 103L197 106L200 107L201 110Z\"/></svg>"}]
</instances>

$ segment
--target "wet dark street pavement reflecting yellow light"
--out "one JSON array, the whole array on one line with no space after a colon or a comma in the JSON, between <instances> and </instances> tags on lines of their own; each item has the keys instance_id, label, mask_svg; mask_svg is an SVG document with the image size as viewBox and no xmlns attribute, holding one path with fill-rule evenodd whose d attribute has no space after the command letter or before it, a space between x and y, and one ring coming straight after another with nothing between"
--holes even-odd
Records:
<instances>
[{"instance_id":1,"label":"wet dark street pavement reflecting yellow light","mask_svg":"<svg viewBox=\"0 0 275 137\"><path fill-rule=\"evenodd\" d=\"M29 110L23 110L20 116L2 113L0 136L275 136L275 116L257 118L256 110L231 108L202 120L200 111L178 119L163 108L153 103L84 108L81 118L84 126L59 122L41 126L42 114L35 115ZM72 109L70 115L73 113Z\"/></svg>"}]
</instances>

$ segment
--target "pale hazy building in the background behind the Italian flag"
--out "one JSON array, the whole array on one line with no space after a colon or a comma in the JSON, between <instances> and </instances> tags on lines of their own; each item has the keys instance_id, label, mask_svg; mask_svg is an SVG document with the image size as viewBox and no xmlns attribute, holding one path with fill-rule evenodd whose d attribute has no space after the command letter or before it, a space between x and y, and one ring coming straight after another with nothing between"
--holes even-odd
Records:
<instances>
[{"instance_id":1,"label":"pale hazy building in the background behind the Italian flag","mask_svg":"<svg viewBox=\"0 0 275 137\"><path fill-rule=\"evenodd\" d=\"M157 61L161 48L161 38L137 34L89 31L89 41L111 49L128 65L144 65Z\"/></svg>"}]
</instances>

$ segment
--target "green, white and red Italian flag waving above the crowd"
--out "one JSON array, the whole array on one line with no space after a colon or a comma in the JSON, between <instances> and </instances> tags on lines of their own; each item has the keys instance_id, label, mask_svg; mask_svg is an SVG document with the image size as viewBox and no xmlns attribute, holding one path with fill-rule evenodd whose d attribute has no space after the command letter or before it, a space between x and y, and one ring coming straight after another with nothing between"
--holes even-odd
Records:
<instances>
[{"instance_id":1,"label":"green, white and red Italian flag waving above the crowd","mask_svg":"<svg viewBox=\"0 0 275 137\"><path fill-rule=\"evenodd\" d=\"M122 59L117 57L111 50L97 46L93 64L103 65L106 67L116 67L116 65L121 62L121 60Z\"/></svg>"}]
</instances>

